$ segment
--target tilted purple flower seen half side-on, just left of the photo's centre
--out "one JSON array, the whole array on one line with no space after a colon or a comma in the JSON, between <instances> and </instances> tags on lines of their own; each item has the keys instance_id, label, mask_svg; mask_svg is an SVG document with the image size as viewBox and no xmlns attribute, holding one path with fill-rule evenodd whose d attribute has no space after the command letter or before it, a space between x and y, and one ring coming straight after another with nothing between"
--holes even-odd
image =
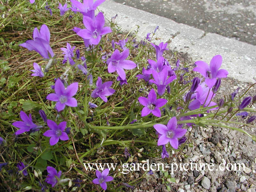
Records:
<instances>
[{"instance_id":1,"label":"tilted purple flower seen half side-on, just left of the photo's centre","mask_svg":"<svg viewBox=\"0 0 256 192\"><path fill-rule=\"evenodd\" d=\"M100 97L103 101L107 102L108 98L106 96L112 95L116 90L111 89L110 86L112 85L112 81L108 81L102 84L102 80L98 77L96 82L96 89L93 90L91 97L96 98Z\"/></svg>"}]
</instances>

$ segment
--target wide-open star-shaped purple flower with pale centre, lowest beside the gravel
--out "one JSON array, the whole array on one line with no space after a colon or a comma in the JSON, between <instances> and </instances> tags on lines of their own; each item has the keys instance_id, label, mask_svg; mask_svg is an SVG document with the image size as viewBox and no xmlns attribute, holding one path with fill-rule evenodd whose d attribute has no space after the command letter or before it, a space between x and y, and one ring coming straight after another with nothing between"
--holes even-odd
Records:
<instances>
[{"instance_id":1,"label":"wide-open star-shaped purple flower with pale centre, lowest beside the gravel","mask_svg":"<svg viewBox=\"0 0 256 192\"><path fill-rule=\"evenodd\" d=\"M165 145L170 143L171 146L175 149L178 149L179 141L178 138L183 137L187 132L186 129L177 128L177 119L176 116L172 117L167 126L163 124L155 124L154 128L161 136L158 139L157 145Z\"/></svg>"}]
</instances>

